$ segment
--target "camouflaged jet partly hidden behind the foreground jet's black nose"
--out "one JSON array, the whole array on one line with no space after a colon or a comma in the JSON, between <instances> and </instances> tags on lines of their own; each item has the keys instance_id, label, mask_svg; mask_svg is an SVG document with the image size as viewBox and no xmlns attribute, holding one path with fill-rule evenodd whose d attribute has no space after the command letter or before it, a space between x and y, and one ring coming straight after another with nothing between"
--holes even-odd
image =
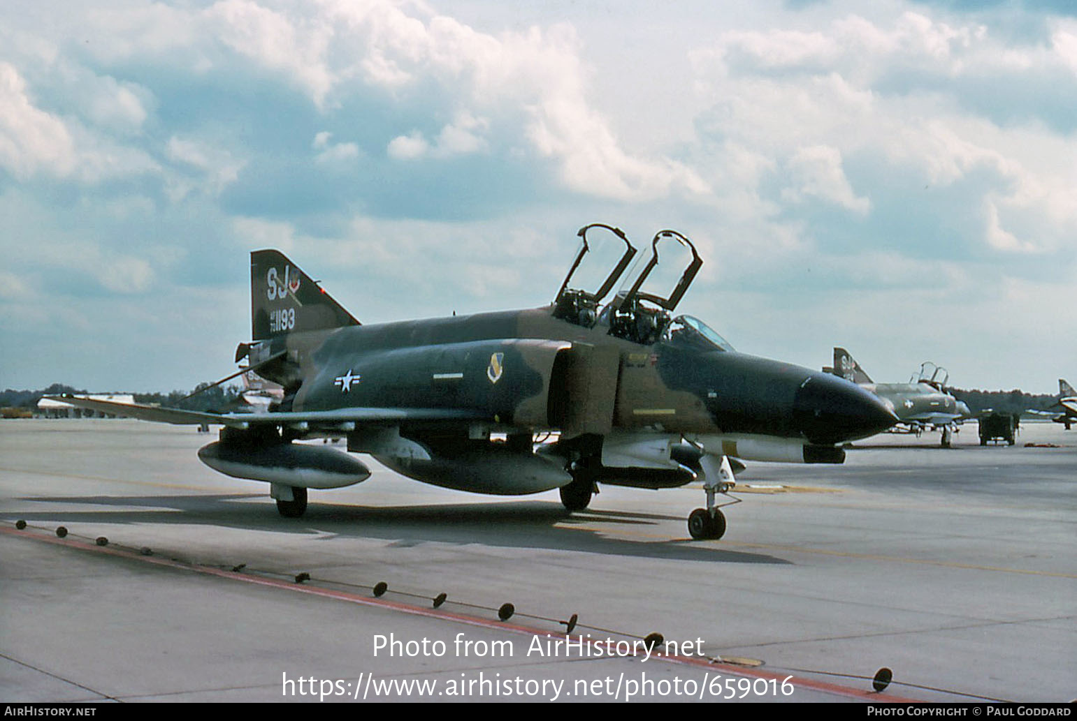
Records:
<instances>
[{"instance_id":1,"label":"camouflaged jet partly hidden behind the foreground jet's black nose","mask_svg":"<svg viewBox=\"0 0 1077 721\"><path fill-rule=\"evenodd\" d=\"M824 368L850 380L862 388L879 396L898 418L891 433L911 433L920 436L924 430L941 430L942 448L950 448L957 425L973 413L963 400L947 393L950 379L946 368L934 363L920 365L920 372L913 373L908 383L876 383L864 371L849 351L834 349L834 367Z\"/></svg>"}]
</instances>

